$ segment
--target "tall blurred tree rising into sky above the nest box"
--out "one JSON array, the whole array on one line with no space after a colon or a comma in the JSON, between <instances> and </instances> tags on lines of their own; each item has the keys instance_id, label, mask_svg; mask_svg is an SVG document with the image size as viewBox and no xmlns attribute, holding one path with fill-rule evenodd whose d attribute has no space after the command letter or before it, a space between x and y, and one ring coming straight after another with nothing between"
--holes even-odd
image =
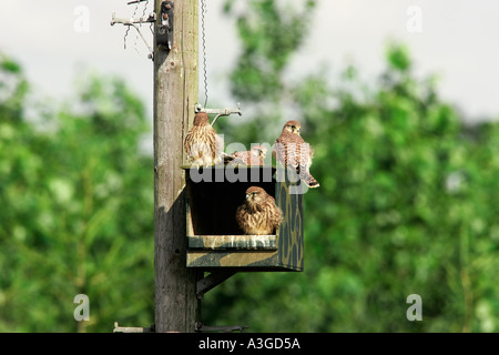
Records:
<instances>
[{"instance_id":1,"label":"tall blurred tree rising into sky above the nest box","mask_svg":"<svg viewBox=\"0 0 499 355\"><path fill-rule=\"evenodd\" d=\"M235 3L243 10L237 10ZM316 1L251 0L225 2L225 12L236 20L241 53L231 72L231 89L242 103L244 118L237 125L218 120L225 141L271 141L281 125L284 100L291 95L284 71L306 39ZM245 120L251 111L252 120ZM268 128L262 131L262 126ZM274 136L275 139L275 136Z\"/></svg>"}]
</instances>

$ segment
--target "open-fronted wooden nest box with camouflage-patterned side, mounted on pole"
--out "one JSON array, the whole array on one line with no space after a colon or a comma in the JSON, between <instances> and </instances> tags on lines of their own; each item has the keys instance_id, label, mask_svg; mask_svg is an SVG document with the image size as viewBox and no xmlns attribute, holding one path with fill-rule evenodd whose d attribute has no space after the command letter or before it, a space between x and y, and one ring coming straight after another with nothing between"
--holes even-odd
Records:
<instances>
[{"instance_id":1,"label":"open-fronted wooden nest box with camouflage-patterned side, mounted on pole","mask_svg":"<svg viewBox=\"0 0 499 355\"><path fill-rule=\"evenodd\" d=\"M273 166L182 166L186 180L187 267L303 271L303 194ZM299 181L298 181L299 184ZM235 220L246 190L263 187L284 220L273 235L244 235Z\"/></svg>"}]
</instances>

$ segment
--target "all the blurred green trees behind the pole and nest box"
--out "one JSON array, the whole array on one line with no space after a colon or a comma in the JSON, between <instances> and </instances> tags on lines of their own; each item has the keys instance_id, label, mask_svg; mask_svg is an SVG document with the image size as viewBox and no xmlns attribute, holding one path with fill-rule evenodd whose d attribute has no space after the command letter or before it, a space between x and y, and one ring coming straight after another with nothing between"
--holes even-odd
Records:
<instances>
[{"instance_id":1,"label":"all the blurred green trees behind the pole and nest box","mask_svg":"<svg viewBox=\"0 0 499 355\"><path fill-rule=\"evenodd\" d=\"M241 54L243 123L225 142L273 143L303 124L320 182L305 202L305 271L242 273L206 294L203 322L251 332L498 332L499 123L462 123L408 48L386 69L289 79L316 1L227 0ZM293 6L292 6L293 3ZM334 87L332 87L334 82ZM143 104L116 78L85 75L61 106L30 101L0 60L0 331L111 332L153 323L152 156ZM246 116L245 112L245 116ZM90 322L73 297L90 298ZM406 300L422 300L409 322Z\"/></svg>"}]
</instances>

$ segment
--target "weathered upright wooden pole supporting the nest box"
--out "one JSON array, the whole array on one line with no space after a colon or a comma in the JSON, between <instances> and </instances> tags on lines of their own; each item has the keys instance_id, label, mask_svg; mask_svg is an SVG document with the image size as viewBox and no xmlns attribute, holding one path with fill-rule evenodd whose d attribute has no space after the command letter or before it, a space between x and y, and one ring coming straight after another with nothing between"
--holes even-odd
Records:
<instances>
[{"instance_id":1,"label":"weathered upright wooden pole supporting the nest box","mask_svg":"<svg viewBox=\"0 0 499 355\"><path fill-rule=\"evenodd\" d=\"M163 0L154 1L155 332L194 332L198 272L186 267L183 139L198 98L198 0L174 0L171 49L157 45Z\"/></svg>"}]
</instances>

